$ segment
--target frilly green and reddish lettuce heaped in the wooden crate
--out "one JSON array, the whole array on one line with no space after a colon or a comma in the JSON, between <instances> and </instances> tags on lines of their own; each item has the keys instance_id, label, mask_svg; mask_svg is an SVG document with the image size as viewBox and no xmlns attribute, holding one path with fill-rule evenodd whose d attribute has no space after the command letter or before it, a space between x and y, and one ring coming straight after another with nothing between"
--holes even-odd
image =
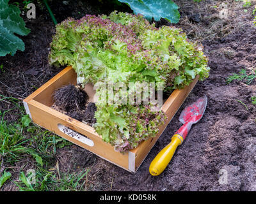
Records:
<instances>
[{"instance_id":1,"label":"frilly green and reddish lettuce heaped in the wooden crate","mask_svg":"<svg viewBox=\"0 0 256 204\"><path fill-rule=\"evenodd\" d=\"M202 46L189 41L181 29L157 29L142 15L116 11L61 22L49 54L54 66L72 66L82 86L111 82L129 87L130 82L152 82L163 84L164 91L181 89L196 75L204 80L209 75L207 61ZM102 98L108 93L100 87L96 92L94 127L102 140L124 152L156 136L165 118L161 110L152 111L156 105L108 104ZM124 94L120 89L114 92Z\"/></svg>"}]
</instances>

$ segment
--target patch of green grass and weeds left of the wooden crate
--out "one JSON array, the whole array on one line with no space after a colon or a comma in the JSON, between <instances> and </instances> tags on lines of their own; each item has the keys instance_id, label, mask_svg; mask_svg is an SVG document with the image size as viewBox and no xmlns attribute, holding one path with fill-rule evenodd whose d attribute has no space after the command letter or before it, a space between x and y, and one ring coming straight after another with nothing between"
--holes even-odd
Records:
<instances>
[{"instance_id":1,"label":"patch of green grass and weeds left of the wooden crate","mask_svg":"<svg viewBox=\"0 0 256 204\"><path fill-rule=\"evenodd\" d=\"M88 168L63 173L56 165L56 149L72 143L33 124L19 99L0 95L0 103L12 104L12 108L0 112L0 191L6 184L19 191L90 190ZM13 110L19 120L4 120L4 115Z\"/></svg>"}]
</instances>

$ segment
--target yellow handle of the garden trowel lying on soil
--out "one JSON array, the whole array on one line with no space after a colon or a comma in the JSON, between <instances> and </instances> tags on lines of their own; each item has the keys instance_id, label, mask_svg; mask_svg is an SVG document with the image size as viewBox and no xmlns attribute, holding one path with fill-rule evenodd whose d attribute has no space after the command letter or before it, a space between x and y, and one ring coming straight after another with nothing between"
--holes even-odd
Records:
<instances>
[{"instance_id":1,"label":"yellow handle of the garden trowel lying on soil","mask_svg":"<svg viewBox=\"0 0 256 204\"><path fill-rule=\"evenodd\" d=\"M149 166L149 172L153 176L161 174L166 166L170 163L175 150L183 142L182 136L175 134L172 136L172 141L164 147L154 158L152 163Z\"/></svg>"}]
</instances>

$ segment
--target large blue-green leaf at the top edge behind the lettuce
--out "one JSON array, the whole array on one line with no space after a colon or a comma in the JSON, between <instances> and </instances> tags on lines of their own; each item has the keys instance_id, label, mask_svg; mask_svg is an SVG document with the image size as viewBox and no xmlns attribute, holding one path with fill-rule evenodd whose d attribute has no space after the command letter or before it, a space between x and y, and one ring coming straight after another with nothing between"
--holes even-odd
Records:
<instances>
[{"instance_id":1,"label":"large blue-green leaf at the top edge behind the lettuce","mask_svg":"<svg viewBox=\"0 0 256 204\"><path fill-rule=\"evenodd\" d=\"M118 0L126 3L137 15L140 13L147 20L154 17L155 20L165 18L172 23L177 23L180 20L179 6L171 0Z\"/></svg>"}]
</instances>

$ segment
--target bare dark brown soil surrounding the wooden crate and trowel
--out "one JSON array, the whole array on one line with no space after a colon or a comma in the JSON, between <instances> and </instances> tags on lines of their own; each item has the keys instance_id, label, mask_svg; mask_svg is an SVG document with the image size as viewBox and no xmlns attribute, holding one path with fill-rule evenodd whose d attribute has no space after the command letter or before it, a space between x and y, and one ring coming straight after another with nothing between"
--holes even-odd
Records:
<instances>
[{"instance_id":1,"label":"bare dark brown soil surrounding the wooden crate and trowel","mask_svg":"<svg viewBox=\"0 0 256 204\"><path fill-rule=\"evenodd\" d=\"M68 16L79 18L113 10L87 1L68 2L69 7L62 1L49 2L58 22ZM60 171L75 172L77 166L90 167L88 179L95 184L93 190L256 191L256 106L251 99L256 96L256 82L245 84L234 80L227 84L227 77L232 73L239 73L241 69L253 73L256 68L256 27L252 23L255 3L245 12L243 3L231 0L175 2L181 14L175 26L184 29L190 40L199 40L204 45L211 68L209 78L196 84L135 174L76 145L56 150ZM227 19L219 16L221 3L227 3ZM131 11L124 7L121 10ZM24 19L31 29L28 36L22 37L26 50L0 59L4 68L0 70L0 94L19 99L31 94L62 69L47 63L54 24L45 8L38 9L36 19ZM168 23L157 22L157 26L163 24ZM204 117L191 128L166 170L153 177L148 172L149 164L182 125L178 120L182 109L203 95L208 98ZM0 101L0 108L9 110L12 105ZM13 121L17 117L12 110L4 119Z\"/></svg>"}]
</instances>

